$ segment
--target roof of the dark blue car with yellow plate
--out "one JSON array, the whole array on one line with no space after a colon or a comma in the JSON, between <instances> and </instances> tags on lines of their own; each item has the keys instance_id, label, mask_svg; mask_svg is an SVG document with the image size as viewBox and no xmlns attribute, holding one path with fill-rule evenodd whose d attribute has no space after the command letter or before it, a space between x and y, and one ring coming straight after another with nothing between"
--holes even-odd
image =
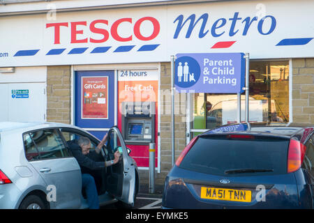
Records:
<instances>
[{"instance_id":1,"label":"roof of the dark blue car with yellow plate","mask_svg":"<svg viewBox=\"0 0 314 223\"><path fill-rule=\"evenodd\" d=\"M214 128L213 130L204 132L203 135L241 132L244 134L271 134L291 137L304 128L314 128L314 125L311 123L249 123L251 128L248 128L247 126L247 123L223 125L218 128Z\"/></svg>"}]
</instances>

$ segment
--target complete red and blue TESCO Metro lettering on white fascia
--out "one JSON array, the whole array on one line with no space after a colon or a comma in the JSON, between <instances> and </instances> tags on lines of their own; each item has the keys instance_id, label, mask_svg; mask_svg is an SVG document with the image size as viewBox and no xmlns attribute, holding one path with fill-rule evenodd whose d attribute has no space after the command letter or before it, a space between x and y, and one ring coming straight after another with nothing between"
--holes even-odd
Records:
<instances>
[{"instance_id":1,"label":"complete red and blue TESCO Metro lettering on white fascia","mask_svg":"<svg viewBox=\"0 0 314 223\"><path fill-rule=\"evenodd\" d=\"M236 35L239 32L239 28L236 29L236 26L242 26L242 36L246 36L248 33L248 30L251 28L252 24L257 23L257 31L261 35L269 35L272 33L276 28L276 18L272 15L266 15L262 17L260 20L255 17L240 17L239 12L235 12L233 17L229 18L219 18L218 20L214 21L211 24L211 29L205 29L205 26L209 24L209 14L204 13L200 17L196 17L195 14L189 15L186 20L184 20L184 15L179 15L175 20L174 24L177 23L177 27L174 30L173 38L177 39L181 30L184 26L188 26L188 29L186 31L186 38L190 38L191 33L195 29L195 26L197 24L201 24L199 29L199 38L204 38L207 36L207 34L211 33L211 36L214 38L218 38L226 33L225 27L230 26L229 31L227 31L228 35L230 37ZM151 22L153 25L153 32L150 36L144 36L141 33L141 25L143 22ZM133 35L130 35L128 37L122 37L118 33L118 28L122 23L130 23L133 25ZM230 24L228 24L228 22ZM240 24L241 23L241 24ZM109 22L108 20L94 20L90 22L89 24L87 21L81 21L81 22L59 22L59 23L47 23L46 29L54 29L54 44L60 44L61 43L61 27L66 27L66 31L70 32L70 43L105 43L110 36L117 40L118 42L128 42L132 41L133 38L137 38L137 40L142 41L149 41L154 40L160 33L160 22L154 17L142 17L137 21L133 21L133 18L126 17L121 18L115 22L112 23L108 29L98 28L97 26L99 24L104 24L105 26L108 26ZM266 25L265 25L266 24ZM100 34L103 36L103 38L94 39L89 36L84 36L84 31L82 29L82 26L89 26L89 30L91 33ZM268 26L268 28L265 28L264 26ZM78 35L84 36L83 38L78 38Z\"/></svg>"}]
</instances>

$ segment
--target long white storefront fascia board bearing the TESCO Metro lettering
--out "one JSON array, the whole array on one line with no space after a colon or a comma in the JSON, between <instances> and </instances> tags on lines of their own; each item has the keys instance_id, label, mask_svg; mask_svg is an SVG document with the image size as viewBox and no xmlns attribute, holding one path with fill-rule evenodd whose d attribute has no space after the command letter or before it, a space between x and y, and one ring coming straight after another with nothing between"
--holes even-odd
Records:
<instances>
[{"instance_id":1,"label":"long white storefront fascia board bearing the TESCO Metro lettering","mask_svg":"<svg viewBox=\"0 0 314 223\"><path fill-rule=\"evenodd\" d=\"M56 20L29 15L23 24L33 26L19 24L13 31L13 20L0 23L1 33L9 33L0 35L0 66L150 63L202 52L249 52L251 59L313 57L313 27L304 21L314 20L314 14L302 12L314 1L300 1L267 1L265 10L257 10L256 1L222 1L83 10L58 13Z\"/></svg>"}]
</instances>

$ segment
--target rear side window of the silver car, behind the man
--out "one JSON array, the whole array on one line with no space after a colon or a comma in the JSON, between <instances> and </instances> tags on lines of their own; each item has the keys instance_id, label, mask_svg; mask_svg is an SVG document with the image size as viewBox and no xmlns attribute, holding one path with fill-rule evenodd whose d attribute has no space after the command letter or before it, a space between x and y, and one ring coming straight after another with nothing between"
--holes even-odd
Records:
<instances>
[{"instance_id":1,"label":"rear side window of the silver car, behind the man","mask_svg":"<svg viewBox=\"0 0 314 223\"><path fill-rule=\"evenodd\" d=\"M24 134L27 160L44 160L69 157L60 134L55 129L36 130Z\"/></svg>"}]
</instances>

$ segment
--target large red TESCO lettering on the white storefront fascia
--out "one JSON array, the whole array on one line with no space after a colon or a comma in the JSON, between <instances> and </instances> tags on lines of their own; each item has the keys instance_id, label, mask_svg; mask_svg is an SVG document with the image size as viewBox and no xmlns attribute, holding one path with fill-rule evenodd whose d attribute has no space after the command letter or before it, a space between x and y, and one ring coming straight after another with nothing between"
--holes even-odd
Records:
<instances>
[{"instance_id":1,"label":"large red TESCO lettering on the white storefront fascia","mask_svg":"<svg viewBox=\"0 0 314 223\"><path fill-rule=\"evenodd\" d=\"M154 26L154 31L151 33L150 36L144 36L141 33L140 26L142 22L149 21ZM128 37L121 37L118 33L119 25L121 25L124 22L128 22L133 25L133 35L130 35ZM58 23L47 23L46 29L54 29L54 44L60 44L61 43L61 27L66 27L68 32L70 32L70 43L105 43L110 36L114 38L114 40L117 40L118 42L128 42L133 40L133 38L137 38L138 40L143 41L149 41L153 40L158 36L160 31L160 24L158 20L156 20L154 17L142 17L136 22L133 21L132 18L122 18L120 20L117 20L113 22L110 29L101 29L98 28L98 24L105 24L108 25L108 20L94 20L91 23L87 24L87 21L82 22L58 22ZM82 26L89 26L89 30L91 33L97 33L103 36L103 38L94 39L88 36L84 36L84 31L82 30ZM84 36L83 38L78 38L78 35Z\"/></svg>"}]
</instances>

